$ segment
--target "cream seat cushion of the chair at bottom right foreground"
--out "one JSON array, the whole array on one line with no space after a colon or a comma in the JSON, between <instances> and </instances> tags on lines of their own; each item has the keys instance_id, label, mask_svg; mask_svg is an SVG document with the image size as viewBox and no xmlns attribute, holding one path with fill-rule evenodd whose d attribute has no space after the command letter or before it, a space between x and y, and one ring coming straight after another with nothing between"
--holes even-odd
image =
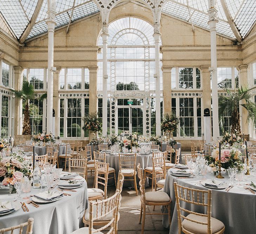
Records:
<instances>
[{"instance_id":1,"label":"cream seat cushion of the chair at bottom right foreground","mask_svg":"<svg viewBox=\"0 0 256 234\"><path fill-rule=\"evenodd\" d=\"M187 217L192 220L207 223L207 217L203 217L203 216L196 215L196 214L189 214ZM207 233L207 225L191 222L186 219L184 219L182 221L182 226L186 230L189 230L192 233L197 233L197 234L206 234ZM212 234L218 232L219 230L221 230L224 227L225 226L224 226L223 222L211 217L211 232L212 232Z\"/></svg>"}]
</instances>

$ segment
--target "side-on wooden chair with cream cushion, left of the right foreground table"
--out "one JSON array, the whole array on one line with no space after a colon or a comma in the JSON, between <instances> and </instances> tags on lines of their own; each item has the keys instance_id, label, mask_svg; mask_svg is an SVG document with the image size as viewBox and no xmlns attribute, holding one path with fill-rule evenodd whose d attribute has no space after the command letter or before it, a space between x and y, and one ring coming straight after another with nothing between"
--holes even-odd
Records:
<instances>
[{"instance_id":1,"label":"side-on wooden chair with cream cushion, left of the right foreground table","mask_svg":"<svg viewBox=\"0 0 256 234\"><path fill-rule=\"evenodd\" d=\"M168 194L162 191L145 192L145 180L143 169L140 168L140 163L137 165L137 173L139 177L140 189L140 217L139 223L142 223L141 233L144 233L145 216L150 215L169 215L169 224L171 224L171 199ZM168 213L146 213L146 206L165 206L168 208Z\"/></svg>"}]
</instances>

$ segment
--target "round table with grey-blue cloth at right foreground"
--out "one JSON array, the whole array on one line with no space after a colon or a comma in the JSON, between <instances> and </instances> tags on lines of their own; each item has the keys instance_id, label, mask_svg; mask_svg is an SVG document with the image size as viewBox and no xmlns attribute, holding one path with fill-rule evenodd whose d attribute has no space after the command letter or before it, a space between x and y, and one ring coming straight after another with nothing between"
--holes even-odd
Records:
<instances>
[{"instance_id":1,"label":"round table with grey-blue cloth at right foreground","mask_svg":"<svg viewBox=\"0 0 256 234\"><path fill-rule=\"evenodd\" d=\"M229 176L224 174L225 178L223 179L229 184ZM207 179L216 179L214 174L207 174ZM246 176L245 176L246 178ZM250 182L251 179L255 178L246 178ZM166 174L166 180L164 185L164 192L166 192L171 200L171 213L172 220L170 226L170 234L178 233L178 218L177 218L177 207L173 182L177 182L179 185L208 190L208 188L203 185L195 185L198 181L202 180L202 176L197 176L196 178L187 178L187 179L178 179L175 176L172 176L168 171ZM235 181L236 183L236 181ZM244 185L245 182L242 182ZM242 187L235 186L230 189L229 192L225 189L211 189L212 190L212 204L211 204L211 216L222 221L225 225L225 233L232 234L254 234L256 230L256 194L252 194L250 191L245 190ZM181 204L183 204L181 202ZM182 205L185 209L189 209L195 212L201 212L206 214L206 209L202 206L196 206L186 203ZM163 215L163 226L165 228L169 227L168 216Z\"/></svg>"}]
</instances>

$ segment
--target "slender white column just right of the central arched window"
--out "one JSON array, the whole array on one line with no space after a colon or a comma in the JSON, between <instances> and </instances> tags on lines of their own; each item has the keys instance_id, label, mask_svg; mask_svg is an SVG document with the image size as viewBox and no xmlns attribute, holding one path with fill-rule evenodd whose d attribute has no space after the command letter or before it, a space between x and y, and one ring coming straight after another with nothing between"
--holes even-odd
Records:
<instances>
[{"instance_id":1,"label":"slender white column just right of the central arched window","mask_svg":"<svg viewBox=\"0 0 256 234\"><path fill-rule=\"evenodd\" d=\"M161 135L161 112L160 112L160 24L154 24L155 39L155 82L156 82L156 135Z\"/></svg>"}]
</instances>

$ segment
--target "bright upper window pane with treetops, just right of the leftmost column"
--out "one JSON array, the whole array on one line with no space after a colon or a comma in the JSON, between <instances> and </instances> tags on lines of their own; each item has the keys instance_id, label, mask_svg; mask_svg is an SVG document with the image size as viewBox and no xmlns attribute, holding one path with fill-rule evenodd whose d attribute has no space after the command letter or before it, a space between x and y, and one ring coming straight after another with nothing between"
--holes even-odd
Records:
<instances>
[{"instance_id":1,"label":"bright upper window pane with treetops, just right of the leftmost column","mask_svg":"<svg viewBox=\"0 0 256 234\"><path fill-rule=\"evenodd\" d=\"M67 89L81 89L82 84L82 69L68 68L67 69Z\"/></svg>"}]
</instances>

